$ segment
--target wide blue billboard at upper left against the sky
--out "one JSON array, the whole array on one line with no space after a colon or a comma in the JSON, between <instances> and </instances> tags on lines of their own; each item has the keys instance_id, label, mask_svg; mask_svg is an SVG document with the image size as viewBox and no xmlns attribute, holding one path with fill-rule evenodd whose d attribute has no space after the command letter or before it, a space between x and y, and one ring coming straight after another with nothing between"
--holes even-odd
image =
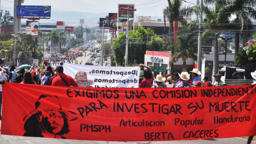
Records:
<instances>
[{"instance_id":1,"label":"wide blue billboard at upper left against the sky","mask_svg":"<svg viewBox=\"0 0 256 144\"><path fill-rule=\"evenodd\" d=\"M17 17L51 17L51 6L17 5Z\"/></svg>"}]
</instances>

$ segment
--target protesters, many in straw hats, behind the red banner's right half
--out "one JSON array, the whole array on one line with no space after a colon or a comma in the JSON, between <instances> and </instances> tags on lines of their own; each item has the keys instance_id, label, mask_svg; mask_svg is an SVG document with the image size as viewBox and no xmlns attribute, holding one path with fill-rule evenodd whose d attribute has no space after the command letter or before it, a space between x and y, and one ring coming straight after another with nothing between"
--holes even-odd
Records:
<instances>
[{"instance_id":1,"label":"protesters, many in straw hats, behind the red banner's right half","mask_svg":"<svg viewBox=\"0 0 256 144\"><path fill-rule=\"evenodd\" d=\"M203 81L201 80L201 72L194 68L192 71L189 71L189 73L182 72L178 73L175 71L173 73L173 79L171 74L165 75L165 77L162 77L162 75L156 75L156 77L153 77L152 69L146 65L140 64L139 67L145 67L146 69L143 71L144 79L141 79L139 87L209 87L209 86L227 86L225 82L221 81L221 75L216 74L213 75L215 83L211 83L208 81L208 77L205 76L203 78ZM193 81L190 78L190 75L192 76ZM256 71L254 73L251 73L252 77L255 75L256 78ZM254 77L253 77L254 78ZM154 80L156 84L154 84ZM256 80L254 79L253 84L256 84Z\"/></svg>"}]
</instances>

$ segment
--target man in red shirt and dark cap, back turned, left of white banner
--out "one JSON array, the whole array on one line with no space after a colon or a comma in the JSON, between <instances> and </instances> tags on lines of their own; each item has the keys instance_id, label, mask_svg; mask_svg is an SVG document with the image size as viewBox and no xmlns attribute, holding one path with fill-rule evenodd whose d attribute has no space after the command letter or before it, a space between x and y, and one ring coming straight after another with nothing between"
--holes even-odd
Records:
<instances>
[{"instance_id":1,"label":"man in red shirt and dark cap, back turned, left of white banner","mask_svg":"<svg viewBox=\"0 0 256 144\"><path fill-rule=\"evenodd\" d=\"M57 77L52 80L53 86L78 86L73 77L63 73L62 65L57 65L55 71L57 73Z\"/></svg>"}]
</instances>

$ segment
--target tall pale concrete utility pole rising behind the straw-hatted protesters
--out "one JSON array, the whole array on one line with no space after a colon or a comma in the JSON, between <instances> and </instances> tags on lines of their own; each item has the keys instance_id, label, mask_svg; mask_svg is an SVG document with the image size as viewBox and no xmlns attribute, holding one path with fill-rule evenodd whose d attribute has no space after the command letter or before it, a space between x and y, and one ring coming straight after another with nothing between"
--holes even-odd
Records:
<instances>
[{"instance_id":1,"label":"tall pale concrete utility pole rising behind the straw-hatted protesters","mask_svg":"<svg viewBox=\"0 0 256 144\"><path fill-rule=\"evenodd\" d=\"M197 51L197 69L202 70L202 19L203 19L203 0L200 2L200 20L199 20L199 34L198 34L198 51Z\"/></svg>"}]
</instances>

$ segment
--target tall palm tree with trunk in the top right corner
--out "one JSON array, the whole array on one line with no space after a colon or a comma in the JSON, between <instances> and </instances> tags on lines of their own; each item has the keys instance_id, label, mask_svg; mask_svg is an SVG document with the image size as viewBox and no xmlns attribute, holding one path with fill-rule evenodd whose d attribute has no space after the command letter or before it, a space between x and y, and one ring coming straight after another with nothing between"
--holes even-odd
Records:
<instances>
[{"instance_id":1,"label":"tall palm tree with trunk in the top right corner","mask_svg":"<svg viewBox=\"0 0 256 144\"><path fill-rule=\"evenodd\" d=\"M207 3L220 3L223 0L206 0ZM256 1L255 0L231 0L227 1L219 11L219 15L225 13L228 18L231 19L233 15L236 16L234 20L231 21L235 30L239 29L235 33L235 57L239 51L239 34L243 33L243 30L253 29L251 19L256 18Z\"/></svg>"}]
</instances>

